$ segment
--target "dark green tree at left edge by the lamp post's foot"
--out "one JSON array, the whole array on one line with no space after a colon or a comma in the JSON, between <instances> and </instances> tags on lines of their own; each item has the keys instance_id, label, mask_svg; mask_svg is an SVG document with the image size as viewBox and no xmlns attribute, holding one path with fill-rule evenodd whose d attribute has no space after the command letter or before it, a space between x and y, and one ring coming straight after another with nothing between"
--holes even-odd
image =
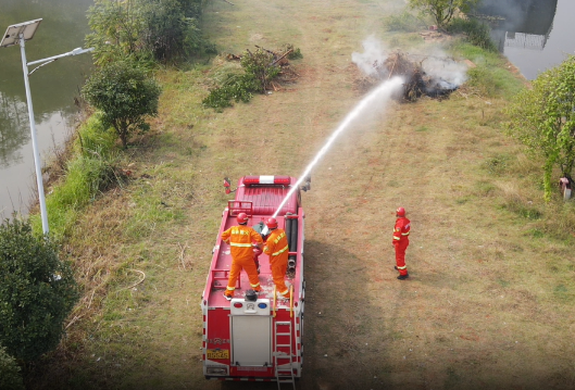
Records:
<instances>
[{"instance_id":1,"label":"dark green tree at left edge by the lamp post's foot","mask_svg":"<svg viewBox=\"0 0 575 390\"><path fill-rule=\"evenodd\" d=\"M34 361L53 350L78 299L67 262L48 237L34 237L28 222L0 225L0 344Z\"/></svg>"}]
</instances>

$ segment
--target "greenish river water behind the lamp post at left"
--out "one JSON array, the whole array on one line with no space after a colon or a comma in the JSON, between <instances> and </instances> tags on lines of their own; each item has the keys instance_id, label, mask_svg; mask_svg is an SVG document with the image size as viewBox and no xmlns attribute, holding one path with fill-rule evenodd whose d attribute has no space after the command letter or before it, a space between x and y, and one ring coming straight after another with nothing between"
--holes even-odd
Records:
<instances>
[{"instance_id":1,"label":"greenish river water behind the lamp post at left","mask_svg":"<svg viewBox=\"0 0 575 390\"><path fill-rule=\"evenodd\" d=\"M42 18L26 41L28 62L84 47L86 11L93 0L2 0L0 30ZM30 71L34 67L30 66ZM77 116L74 98L91 70L90 54L58 60L29 76L38 147L42 162L62 146ZM37 198L34 155L18 46L0 48L0 217L26 215Z\"/></svg>"}]
</instances>

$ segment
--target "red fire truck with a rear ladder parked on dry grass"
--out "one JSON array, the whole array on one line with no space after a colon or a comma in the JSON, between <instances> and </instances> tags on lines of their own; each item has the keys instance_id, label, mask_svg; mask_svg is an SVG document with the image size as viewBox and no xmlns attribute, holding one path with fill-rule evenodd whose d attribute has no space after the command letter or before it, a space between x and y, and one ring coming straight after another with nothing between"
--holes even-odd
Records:
<instances>
[{"instance_id":1,"label":"red fire truck with a rear ladder parked on dry grass","mask_svg":"<svg viewBox=\"0 0 575 390\"><path fill-rule=\"evenodd\" d=\"M303 187L295 188L297 185L297 179L290 176L245 176L238 181L235 200L228 201L222 214L201 301L202 361L208 379L276 380L279 387L279 383L295 383L295 378L301 376L305 284L300 189L308 190L310 184L308 180ZM229 183L225 181L225 186L229 193ZM275 215L278 227L286 230L288 299L276 299L266 254L259 257L262 291L255 298L247 297L250 282L241 272L232 301L224 297L232 255L229 244L222 241L222 232L237 225L239 213L248 214L248 225L264 241L265 221L271 216Z\"/></svg>"}]
</instances>

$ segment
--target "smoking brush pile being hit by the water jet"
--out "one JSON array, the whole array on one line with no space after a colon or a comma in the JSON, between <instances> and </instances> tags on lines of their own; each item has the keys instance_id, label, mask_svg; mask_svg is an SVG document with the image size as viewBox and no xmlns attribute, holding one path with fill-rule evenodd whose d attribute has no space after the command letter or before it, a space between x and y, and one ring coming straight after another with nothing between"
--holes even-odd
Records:
<instances>
[{"instance_id":1,"label":"smoking brush pile being hit by the water jet","mask_svg":"<svg viewBox=\"0 0 575 390\"><path fill-rule=\"evenodd\" d=\"M418 61L417 61L418 60ZM448 68L450 62L453 60L445 58L430 58L423 55L409 55L401 51L396 51L388 55L384 61L376 60L368 76L363 77L357 81L358 88L361 91L367 91L393 76L403 78L403 90L399 97L401 100L413 102L422 96L429 98L443 99L451 92L459 88L461 83L448 81L441 76L434 76L433 72L438 66ZM425 67L429 67L432 72L426 72ZM441 72L438 72L441 74ZM445 73L445 72L443 72Z\"/></svg>"}]
</instances>

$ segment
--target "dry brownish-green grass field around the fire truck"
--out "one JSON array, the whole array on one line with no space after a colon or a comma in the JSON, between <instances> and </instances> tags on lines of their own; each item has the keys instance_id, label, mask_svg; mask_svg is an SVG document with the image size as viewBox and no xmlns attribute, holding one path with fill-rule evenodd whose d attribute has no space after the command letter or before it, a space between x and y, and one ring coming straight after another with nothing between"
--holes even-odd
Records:
<instances>
[{"instance_id":1,"label":"dry brownish-green grass field around the fire truck","mask_svg":"<svg viewBox=\"0 0 575 390\"><path fill-rule=\"evenodd\" d=\"M205 381L200 362L223 177L299 176L362 99L350 62L362 41L425 45L385 30L399 0L233 2L208 5L209 39L236 54L292 43L299 80L215 113L201 100L223 60L159 73L160 115L122 163L133 179L93 201L63 249L84 297L29 388L248 388ZM364 115L313 169L299 389L575 388L573 206L542 202L538 162L501 131L509 71L489 66L491 89ZM399 205L412 221L405 281Z\"/></svg>"}]
</instances>

